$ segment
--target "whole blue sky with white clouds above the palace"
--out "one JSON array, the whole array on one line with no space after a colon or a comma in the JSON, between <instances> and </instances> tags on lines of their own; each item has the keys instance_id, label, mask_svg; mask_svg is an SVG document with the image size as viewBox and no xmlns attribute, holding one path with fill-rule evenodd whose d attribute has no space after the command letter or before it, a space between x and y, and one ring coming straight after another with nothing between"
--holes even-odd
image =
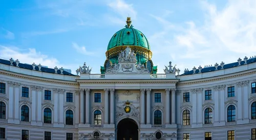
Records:
<instances>
[{"instance_id":1,"label":"whole blue sky with white clouds above the palace","mask_svg":"<svg viewBox=\"0 0 256 140\"><path fill-rule=\"evenodd\" d=\"M148 39L152 61L185 68L256 55L256 1L0 1L0 59L100 73L109 40L130 16Z\"/></svg>"}]
</instances>

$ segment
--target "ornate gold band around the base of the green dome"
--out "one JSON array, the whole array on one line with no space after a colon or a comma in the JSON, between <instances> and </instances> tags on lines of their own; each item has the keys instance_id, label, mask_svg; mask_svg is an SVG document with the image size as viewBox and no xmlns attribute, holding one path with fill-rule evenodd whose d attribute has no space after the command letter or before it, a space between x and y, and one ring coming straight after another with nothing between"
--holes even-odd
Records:
<instances>
[{"instance_id":1,"label":"ornate gold band around the base of the green dome","mask_svg":"<svg viewBox=\"0 0 256 140\"><path fill-rule=\"evenodd\" d=\"M139 53L140 55L143 55L144 57L146 57L148 60L151 60L152 54L153 54L151 50L148 50L141 46L134 46L134 45L123 45L123 46L117 46L117 47L111 48L105 53L106 59L110 59L111 57L118 55L119 52L121 52L121 50L125 50L127 46L129 46L132 50L134 50L136 54Z\"/></svg>"}]
</instances>

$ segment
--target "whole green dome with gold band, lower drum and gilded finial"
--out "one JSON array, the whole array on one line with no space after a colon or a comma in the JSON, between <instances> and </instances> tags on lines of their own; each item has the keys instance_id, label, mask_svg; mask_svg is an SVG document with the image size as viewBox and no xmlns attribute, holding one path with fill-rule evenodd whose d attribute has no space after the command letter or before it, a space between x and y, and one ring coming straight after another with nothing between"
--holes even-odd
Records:
<instances>
[{"instance_id":1,"label":"whole green dome with gold band, lower drum and gilded finial","mask_svg":"<svg viewBox=\"0 0 256 140\"><path fill-rule=\"evenodd\" d=\"M131 18L127 17L125 28L116 32L109 42L105 54L106 59L113 64L118 63L119 53L127 46L136 53L137 63L146 64L152 58L150 43L148 43L143 33L134 29L131 23Z\"/></svg>"}]
</instances>

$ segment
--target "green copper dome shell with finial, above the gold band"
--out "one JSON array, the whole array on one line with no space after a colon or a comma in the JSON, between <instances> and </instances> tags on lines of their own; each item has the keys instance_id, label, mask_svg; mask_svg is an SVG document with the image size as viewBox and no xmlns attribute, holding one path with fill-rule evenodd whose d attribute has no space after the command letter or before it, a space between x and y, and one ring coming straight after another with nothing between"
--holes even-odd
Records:
<instances>
[{"instance_id":1,"label":"green copper dome shell with finial, above the gold band","mask_svg":"<svg viewBox=\"0 0 256 140\"><path fill-rule=\"evenodd\" d=\"M139 30L133 28L131 21L130 24L127 23L125 25L124 29L117 31L112 36L107 50L122 45L141 46L150 50L150 44L148 43L146 37Z\"/></svg>"}]
</instances>

